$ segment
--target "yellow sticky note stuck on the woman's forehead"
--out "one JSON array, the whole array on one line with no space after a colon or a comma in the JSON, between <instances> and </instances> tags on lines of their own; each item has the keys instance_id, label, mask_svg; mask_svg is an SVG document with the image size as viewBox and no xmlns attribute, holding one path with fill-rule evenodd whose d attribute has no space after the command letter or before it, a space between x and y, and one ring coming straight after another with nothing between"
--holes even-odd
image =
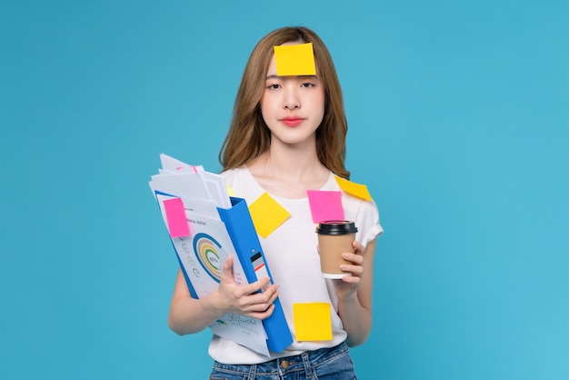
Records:
<instances>
[{"instance_id":1,"label":"yellow sticky note stuck on the woman's forehead","mask_svg":"<svg viewBox=\"0 0 569 380\"><path fill-rule=\"evenodd\" d=\"M275 46L276 75L316 75L312 43Z\"/></svg>"}]
</instances>

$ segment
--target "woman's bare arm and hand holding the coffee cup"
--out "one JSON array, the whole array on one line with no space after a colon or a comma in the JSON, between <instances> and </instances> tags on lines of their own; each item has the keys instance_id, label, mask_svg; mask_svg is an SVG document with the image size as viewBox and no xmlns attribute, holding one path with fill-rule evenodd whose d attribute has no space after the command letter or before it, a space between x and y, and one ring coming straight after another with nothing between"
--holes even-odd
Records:
<instances>
[{"instance_id":1,"label":"woman's bare arm and hand holding the coffee cup","mask_svg":"<svg viewBox=\"0 0 569 380\"><path fill-rule=\"evenodd\" d=\"M338 293L338 315L348 333L349 346L361 345L372 329L372 287L374 284L375 240L364 247L354 242L355 252L344 253L344 259L353 265L342 265L351 272L341 280L334 280Z\"/></svg>"}]
</instances>

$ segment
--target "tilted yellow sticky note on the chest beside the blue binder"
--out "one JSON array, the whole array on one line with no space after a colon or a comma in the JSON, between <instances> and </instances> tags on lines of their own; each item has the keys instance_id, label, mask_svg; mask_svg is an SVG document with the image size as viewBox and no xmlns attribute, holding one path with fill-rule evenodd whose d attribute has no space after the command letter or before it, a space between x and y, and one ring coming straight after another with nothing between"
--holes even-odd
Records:
<instances>
[{"instance_id":1,"label":"tilted yellow sticky note on the chest beside the blue binder","mask_svg":"<svg viewBox=\"0 0 569 380\"><path fill-rule=\"evenodd\" d=\"M267 193L263 193L249 205L249 213L251 213L257 234L264 238L271 235L290 216L290 213Z\"/></svg>"}]
</instances>

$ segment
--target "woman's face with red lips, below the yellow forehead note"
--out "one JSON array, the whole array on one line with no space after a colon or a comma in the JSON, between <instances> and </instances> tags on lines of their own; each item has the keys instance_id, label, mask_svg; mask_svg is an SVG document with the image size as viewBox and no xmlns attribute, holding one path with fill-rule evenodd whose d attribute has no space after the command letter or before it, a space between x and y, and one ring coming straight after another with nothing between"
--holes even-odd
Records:
<instances>
[{"instance_id":1,"label":"woman's face with red lips, below the yellow forehead note","mask_svg":"<svg viewBox=\"0 0 569 380\"><path fill-rule=\"evenodd\" d=\"M276 75L273 55L260 105L271 131L271 144L314 144L316 129L324 117L324 84L318 75Z\"/></svg>"}]
</instances>

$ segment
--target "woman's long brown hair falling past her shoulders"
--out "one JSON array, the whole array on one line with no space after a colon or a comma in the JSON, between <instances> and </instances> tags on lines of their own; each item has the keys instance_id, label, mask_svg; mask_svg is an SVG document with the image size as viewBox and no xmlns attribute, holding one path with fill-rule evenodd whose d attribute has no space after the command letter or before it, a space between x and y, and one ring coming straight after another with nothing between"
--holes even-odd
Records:
<instances>
[{"instance_id":1,"label":"woman's long brown hair falling past her shoulders","mask_svg":"<svg viewBox=\"0 0 569 380\"><path fill-rule=\"evenodd\" d=\"M273 47L296 41L313 44L314 60L324 84L324 118L316 130L318 159L335 175L349 179L350 172L344 167L348 124L342 89L324 42L305 27L276 29L265 35L253 49L235 97L233 120L219 152L219 162L224 170L233 169L269 149L271 133L265 125L259 105L265 89L266 72L273 57Z\"/></svg>"}]
</instances>

